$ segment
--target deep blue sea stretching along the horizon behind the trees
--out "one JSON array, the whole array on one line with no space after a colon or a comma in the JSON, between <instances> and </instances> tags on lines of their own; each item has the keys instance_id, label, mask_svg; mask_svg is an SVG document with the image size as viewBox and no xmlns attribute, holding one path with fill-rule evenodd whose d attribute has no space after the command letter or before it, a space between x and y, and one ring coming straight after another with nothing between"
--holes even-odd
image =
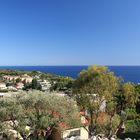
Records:
<instances>
[{"instance_id":1,"label":"deep blue sea stretching along the horizon behind the trees","mask_svg":"<svg viewBox=\"0 0 140 140\"><path fill-rule=\"evenodd\" d=\"M79 73L88 66L0 66L0 69L41 71L50 74L77 78ZM140 83L140 66L109 66L117 76L121 76L125 82Z\"/></svg>"}]
</instances>

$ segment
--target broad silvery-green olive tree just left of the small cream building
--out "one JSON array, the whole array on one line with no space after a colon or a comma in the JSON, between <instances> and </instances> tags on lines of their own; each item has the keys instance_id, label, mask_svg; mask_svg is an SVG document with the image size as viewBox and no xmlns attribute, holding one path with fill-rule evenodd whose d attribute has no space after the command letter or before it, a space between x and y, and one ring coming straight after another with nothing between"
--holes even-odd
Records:
<instances>
[{"instance_id":1,"label":"broad silvery-green olive tree just left of the small cream building","mask_svg":"<svg viewBox=\"0 0 140 140\"><path fill-rule=\"evenodd\" d=\"M39 91L19 98L33 137L44 139L60 124L74 127L80 124L76 103L68 98Z\"/></svg>"}]
</instances>

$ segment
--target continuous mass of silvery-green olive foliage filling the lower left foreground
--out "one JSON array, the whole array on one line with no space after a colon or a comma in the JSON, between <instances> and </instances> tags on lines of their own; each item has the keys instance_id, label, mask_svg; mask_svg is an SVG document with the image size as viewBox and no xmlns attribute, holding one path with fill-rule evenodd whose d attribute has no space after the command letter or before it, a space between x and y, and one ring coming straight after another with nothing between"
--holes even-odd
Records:
<instances>
[{"instance_id":1,"label":"continuous mass of silvery-green olive foliage filling the lower left foreground","mask_svg":"<svg viewBox=\"0 0 140 140\"><path fill-rule=\"evenodd\" d=\"M78 108L72 99L39 91L0 99L0 121L2 132L7 130L3 124L12 121L14 130L26 134L25 126L29 126L34 137L40 137L48 128L59 127L61 123L67 127L80 124Z\"/></svg>"}]
</instances>

